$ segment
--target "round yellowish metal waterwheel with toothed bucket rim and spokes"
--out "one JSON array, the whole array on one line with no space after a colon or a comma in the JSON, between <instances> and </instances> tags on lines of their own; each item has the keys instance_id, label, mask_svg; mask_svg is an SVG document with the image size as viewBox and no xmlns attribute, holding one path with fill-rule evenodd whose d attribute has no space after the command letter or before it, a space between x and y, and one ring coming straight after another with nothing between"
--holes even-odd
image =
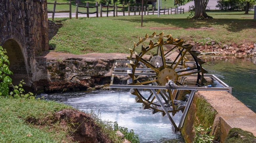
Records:
<instances>
[{"instance_id":1,"label":"round yellowish metal waterwheel with toothed bucket rim and spokes","mask_svg":"<svg viewBox=\"0 0 256 143\"><path fill-rule=\"evenodd\" d=\"M127 66L132 68L128 71L131 77L128 85L135 86L166 86L173 89L143 89L134 88L131 94L136 95L136 102L142 103L143 109L152 109L152 113L162 112L162 115L172 112L174 116L177 111L182 111L185 105L181 100L176 100L181 93L190 93L189 90L178 90L175 87L184 86L182 81L188 75L193 75L196 80L193 86L204 84L204 73L202 68L204 63L197 56L200 54L193 51L191 44L183 44L182 39L174 39L171 35L164 36L164 33L152 35L146 34L144 38L139 38L138 43L134 43L128 56L130 63ZM189 60L188 60L189 58ZM167 115L174 125L173 119Z\"/></svg>"}]
</instances>

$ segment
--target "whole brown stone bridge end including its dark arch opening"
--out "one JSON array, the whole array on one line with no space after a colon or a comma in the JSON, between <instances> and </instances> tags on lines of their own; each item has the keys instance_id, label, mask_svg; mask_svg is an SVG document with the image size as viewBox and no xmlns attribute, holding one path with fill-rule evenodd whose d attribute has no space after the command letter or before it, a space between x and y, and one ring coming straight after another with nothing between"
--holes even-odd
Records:
<instances>
[{"instance_id":1,"label":"whole brown stone bridge end including its dark arch opening","mask_svg":"<svg viewBox=\"0 0 256 143\"><path fill-rule=\"evenodd\" d=\"M0 0L0 46L7 50L14 84L36 79L35 56L48 50L46 0Z\"/></svg>"}]
</instances>

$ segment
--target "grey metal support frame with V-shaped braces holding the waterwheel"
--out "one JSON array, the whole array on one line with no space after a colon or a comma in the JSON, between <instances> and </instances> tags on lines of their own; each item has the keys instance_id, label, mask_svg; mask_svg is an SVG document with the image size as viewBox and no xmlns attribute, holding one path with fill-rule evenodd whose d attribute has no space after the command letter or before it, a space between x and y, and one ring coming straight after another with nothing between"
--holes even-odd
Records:
<instances>
[{"instance_id":1,"label":"grey metal support frame with V-shaped braces holding the waterwheel","mask_svg":"<svg viewBox=\"0 0 256 143\"><path fill-rule=\"evenodd\" d=\"M188 113L189 107L193 101L194 98L194 94L195 91L197 90L206 90L206 91L227 91L231 94L232 92L232 88L229 87L227 84L225 84L223 81L221 81L218 77L216 77L215 75L212 74L204 74L204 77L210 77L211 79L217 81L218 83L220 83L223 87L198 87L198 86L177 86L177 87L165 87L165 86L157 86L154 82L154 86L145 86L145 85L113 85L113 80L114 80L114 76L115 75L128 75L128 72L132 70L132 68L117 68L117 63L129 63L130 61L120 61L117 60L115 63L115 67L114 67L114 71L112 72L112 77L111 77L111 84L110 84L110 88L136 88L136 89L150 89L152 91L152 93L155 95L155 97L157 98L157 100L160 103L160 106L162 107L163 111L165 112L165 114L167 115L167 117L170 119L171 123L174 126L175 131L180 131L181 127L184 124L184 120L186 118L186 115ZM168 62L168 61L166 61ZM194 62L186 62L188 64L193 64ZM143 66L143 64L141 64ZM154 76L156 75L156 73L151 73L149 71L153 71L150 68L146 68L145 66L143 66L144 68L137 68L138 71L142 71L142 72L136 72L135 75L146 75L146 76ZM175 69L175 71L180 71L180 70L184 70L184 69ZM117 72L118 71L118 72ZM119 72L119 71L126 71L126 72ZM192 71L193 72L193 71ZM180 79L180 82L182 83L185 79L185 77L197 77L197 74L191 74L191 75L185 75L182 76ZM169 112L167 111L167 109L165 108L164 104L161 102L161 99L159 97L159 95L156 93L156 89L171 89L174 90L176 89L178 92L180 90L190 90L190 96L189 99L187 101L187 104L185 106L184 112L181 116L181 120L179 125L177 126L174 122L174 120L172 119L171 115L169 114ZM177 96L175 96L175 99L177 98Z\"/></svg>"}]
</instances>

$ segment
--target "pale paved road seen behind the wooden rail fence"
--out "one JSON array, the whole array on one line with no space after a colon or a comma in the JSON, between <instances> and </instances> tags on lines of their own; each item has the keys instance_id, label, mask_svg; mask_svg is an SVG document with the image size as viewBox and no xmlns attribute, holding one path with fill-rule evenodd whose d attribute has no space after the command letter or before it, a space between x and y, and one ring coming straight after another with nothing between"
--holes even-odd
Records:
<instances>
[{"instance_id":1,"label":"pale paved road seen behind the wooden rail fence","mask_svg":"<svg viewBox=\"0 0 256 143\"><path fill-rule=\"evenodd\" d=\"M209 2L207 4L207 9L211 9L211 10L218 9L215 7L217 5L217 1L218 0L209 0ZM194 1L188 2L184 6L180 6L179 8L184 8L184 11L188 11L189 6L194 6ZM171 13L171 12L169 11L169 13ZM152 13L150 13L150 14L152 14ZM109 12L108 15L113 16L113 12ZM122 12L117 12L117 16L122 16L122 15L123 15ZM128 13L125 13L125 15L128 15ZM134 12L131 12L130 15L134 15ZM139 12L137 12L136 15L139 15ZM107 16L107 14L102 13L102 16ZM51 18L51 17L52 17L52 13L48 13L48 18ZM55 13L54 14L54 18L64 18L64 17L69 17L69 13ZM75 13L72 13L72 18L73 17L75 18ZM86 14L78 14L78 17L86 17ZM89 17L96 17L96 14L90 14Z\"/></svg>"}]
</instances>

